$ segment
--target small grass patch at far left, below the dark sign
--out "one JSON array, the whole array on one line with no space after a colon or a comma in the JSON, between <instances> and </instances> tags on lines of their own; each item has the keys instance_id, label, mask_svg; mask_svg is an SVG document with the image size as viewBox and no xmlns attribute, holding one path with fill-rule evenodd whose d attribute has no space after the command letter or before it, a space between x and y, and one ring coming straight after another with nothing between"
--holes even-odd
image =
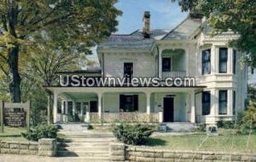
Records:
<instances>
[{"instance_id":1,"label":"small grass patch at far left, below the dark sign","mask_svg":"<svg viewBox=\"0 0 256 162\"><path fill-rule=\"evenodd\" d=\"M3 127L3 133L0 133L0 140L5 141L26 141L26 138L21 136L21 132L25 132L26 128L24 127Z\"/></svg>"}]
</instances>

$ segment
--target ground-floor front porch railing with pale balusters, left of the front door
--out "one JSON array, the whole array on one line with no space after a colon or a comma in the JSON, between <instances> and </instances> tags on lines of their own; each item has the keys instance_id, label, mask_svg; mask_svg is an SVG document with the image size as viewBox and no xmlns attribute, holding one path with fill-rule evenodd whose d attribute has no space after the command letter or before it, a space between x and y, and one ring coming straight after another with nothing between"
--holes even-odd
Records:
<instances>
[{"instance_id":1,"label":"ground-floor front porch railing with pale balusters, left of the front door","mask_svg":"<svg viewBox=\"0 0 256 162\"><path fill-rule=\"evenodd\" d=\"M159 113L102 113L102 122L112 123L120 121L129 122L159 122ZM98 113L90 113L90 122L100 122Z\"/></svg>"}]
</instances>

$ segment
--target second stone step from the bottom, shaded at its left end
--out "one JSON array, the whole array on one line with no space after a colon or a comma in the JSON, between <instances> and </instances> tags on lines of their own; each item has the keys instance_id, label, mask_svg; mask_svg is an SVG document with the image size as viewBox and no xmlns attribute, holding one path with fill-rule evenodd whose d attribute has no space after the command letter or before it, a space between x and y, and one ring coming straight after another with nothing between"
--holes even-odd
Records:
<instances>
[{"instance_id":1,"label":"second stone step from the bottom, shaded at its left end","mask_svg":"<svg viewBox=\"0 0 256 162\"><path fill-rule=\"evenodd\" d=\"M109 157L108 151L58 151L58 156L61 157Z\"/></svg>"}]
</instances>

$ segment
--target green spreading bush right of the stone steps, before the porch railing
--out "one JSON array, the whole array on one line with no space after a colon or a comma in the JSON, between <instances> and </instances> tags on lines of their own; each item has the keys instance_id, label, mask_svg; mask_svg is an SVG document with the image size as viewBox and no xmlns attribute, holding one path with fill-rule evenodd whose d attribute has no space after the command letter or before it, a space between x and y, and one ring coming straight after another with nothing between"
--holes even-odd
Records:
<instances>
[{"instance_id":1,"label":"green spreading bush right of the stone steps, before the porch railing","mask_svg":"<svg viewBox=\"0 0 256 162\"><path fill-rule=\"evenodd\" d=\"M153 132L154 129L148 124L121 123L113 126L113 135L120 142L129 145L144 144Z\"/></svg>"}]
</instances>

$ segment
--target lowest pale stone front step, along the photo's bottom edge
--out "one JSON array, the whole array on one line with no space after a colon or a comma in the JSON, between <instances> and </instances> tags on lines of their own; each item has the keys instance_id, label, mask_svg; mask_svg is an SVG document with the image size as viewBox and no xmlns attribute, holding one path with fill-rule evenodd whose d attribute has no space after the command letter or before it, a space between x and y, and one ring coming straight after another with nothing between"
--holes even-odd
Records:
<instances>
[{"instance_id":1,"label":"lowest pale stone front step, along the photo's bottom edge","mask_svg":"<svg viewBox=\"0 0 256 162\"><path fill-rule=\"evenodd\" d=\"M56 161L60 162L110 162L107 157L57 157Z\"/></svg>"}]
</instances>

